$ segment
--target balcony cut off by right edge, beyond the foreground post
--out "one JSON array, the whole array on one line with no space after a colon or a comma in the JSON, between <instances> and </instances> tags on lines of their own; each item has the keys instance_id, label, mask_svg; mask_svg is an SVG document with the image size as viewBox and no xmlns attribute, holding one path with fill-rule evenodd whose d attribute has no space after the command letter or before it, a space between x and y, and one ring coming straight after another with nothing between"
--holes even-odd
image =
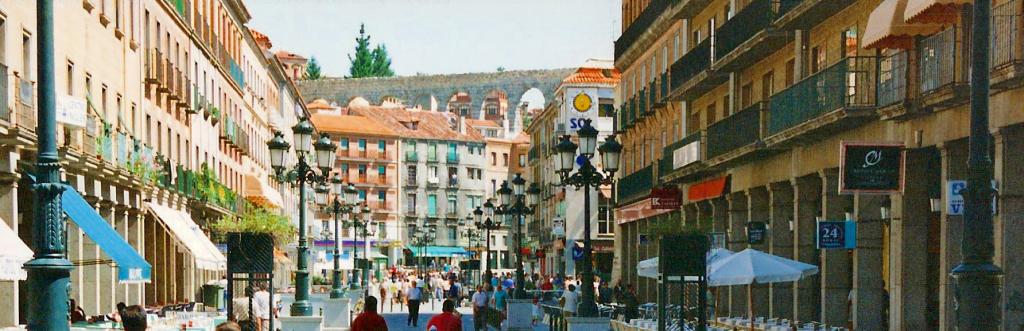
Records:
<instances>
[{"instance_id":1,"label":"balcony cut off by right edge, beyond the foreground post","mask_svg":"<svg viewBox=\"0 0 1024 331\"><path fill-rule=\"evenodd\" d=\"M992 89L1017 86L1021 83L1021 77L1024 77L1020 18L1017 0L992 7Z\"/></svg>"}]
</instances>

